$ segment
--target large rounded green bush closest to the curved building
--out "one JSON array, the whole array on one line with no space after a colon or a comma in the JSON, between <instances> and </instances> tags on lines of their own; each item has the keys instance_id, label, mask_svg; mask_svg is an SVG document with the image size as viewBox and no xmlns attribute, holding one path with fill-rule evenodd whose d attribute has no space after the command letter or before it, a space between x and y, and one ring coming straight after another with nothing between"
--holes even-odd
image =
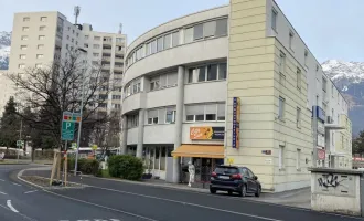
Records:
<instances>
[{"instance_id":1,"label":"large rounded green bush closest to the curved building","mask_svg":"<svg viewBox=\"0 0 364 221\"><path fill-rule=\"evenodd\" d=\"M143 173L141 159L129 155L116 155L108 159L109 175L127 180L140 180Z\"/></svg>"}]
</instances>

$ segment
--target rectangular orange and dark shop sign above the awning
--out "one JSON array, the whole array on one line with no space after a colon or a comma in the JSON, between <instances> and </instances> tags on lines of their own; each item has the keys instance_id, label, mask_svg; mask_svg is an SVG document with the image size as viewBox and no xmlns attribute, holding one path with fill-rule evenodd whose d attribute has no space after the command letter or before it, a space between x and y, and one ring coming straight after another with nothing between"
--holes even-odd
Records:
<instances>
[{"instance_id":1,"label":"rectangular orange and dark shop sign above the awning","mask_svg":"<svg viewBox=\"0 0 364 221\"><path fill-rule=\"evenodd\" d=\"M224 139L225 127L190 127L190 139Z\"/></svg>"}]
</instances>

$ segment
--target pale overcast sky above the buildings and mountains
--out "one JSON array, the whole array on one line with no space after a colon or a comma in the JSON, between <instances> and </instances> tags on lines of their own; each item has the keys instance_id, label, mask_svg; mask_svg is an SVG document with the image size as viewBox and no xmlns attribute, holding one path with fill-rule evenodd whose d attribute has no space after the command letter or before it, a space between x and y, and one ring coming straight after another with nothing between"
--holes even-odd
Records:
<instances>
[{"instance_id":1,"label":"pale overcast sky above the buildings and mountains","mask_svg":"<svg viewBox=\"0 0 364 221\"><path fill-rule=\"evenodd\" d=\"M364 62L364 0L276 0L320 62L328 59ZM228 0L0 0L0 31L11 31L13 13L60 11L94 30L117 32L129 43L149 29L195 11L227 4Z\"/></svg>"}]
</instances>

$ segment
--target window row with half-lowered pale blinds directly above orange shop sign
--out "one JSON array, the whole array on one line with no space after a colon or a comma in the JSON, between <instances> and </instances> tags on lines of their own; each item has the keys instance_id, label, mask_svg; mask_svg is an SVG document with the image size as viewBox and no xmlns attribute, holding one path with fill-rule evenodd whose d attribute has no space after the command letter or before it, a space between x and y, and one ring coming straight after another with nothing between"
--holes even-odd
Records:
<instances>
[{"instance_id":1,"label":"window row with half-lowered pale blinds directly above orange shop sign","mask_svg":"<svg viewBox=\"0 0 364 221\"><path fill-rule=\"evenodd\" d=\"M186 122L225 120L225 104L197 104L185 106Z\"/></svg>"}]
</instances>

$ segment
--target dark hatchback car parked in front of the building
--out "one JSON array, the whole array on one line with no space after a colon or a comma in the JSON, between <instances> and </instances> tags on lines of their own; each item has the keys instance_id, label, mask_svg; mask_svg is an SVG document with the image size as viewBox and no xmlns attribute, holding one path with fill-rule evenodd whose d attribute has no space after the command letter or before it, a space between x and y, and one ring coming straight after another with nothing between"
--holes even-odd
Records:
<instances>
[{"instance_id":1,"label":"dark hatchback car parked in front of the building","mask_svg":"<svg viewBox=\"0 0 364 221\"><path fill-rule=\"evenodd\" d=\"M258 177L247 167L217 166L211 175L210 192L227 191L228 194L237 192L240 197L254 193L259 197L261 185Z\"/></svg>"}]
</instances>

